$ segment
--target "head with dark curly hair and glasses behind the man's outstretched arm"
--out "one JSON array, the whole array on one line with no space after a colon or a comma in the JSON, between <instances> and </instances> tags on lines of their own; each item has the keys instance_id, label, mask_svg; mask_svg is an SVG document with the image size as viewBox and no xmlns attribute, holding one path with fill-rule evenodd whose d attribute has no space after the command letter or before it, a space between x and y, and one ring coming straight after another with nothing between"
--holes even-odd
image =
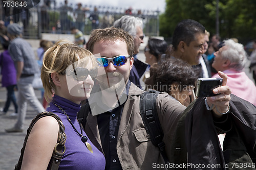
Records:
<instances>
[{"instance_id":1,"label":"head with dark curly hair and glasses behind the man's outstretched arm","mask_svg":"<svg viewBox=\"0 0 256 170\"><path fill-rule=\"evenodd\" d=\"M167 92L182 105L188 106L194 101L194 88L199 71L193 69L181 59L168 59L158 64L154 69L153 84L148 88Z\"/></svg>"}]
</instances>

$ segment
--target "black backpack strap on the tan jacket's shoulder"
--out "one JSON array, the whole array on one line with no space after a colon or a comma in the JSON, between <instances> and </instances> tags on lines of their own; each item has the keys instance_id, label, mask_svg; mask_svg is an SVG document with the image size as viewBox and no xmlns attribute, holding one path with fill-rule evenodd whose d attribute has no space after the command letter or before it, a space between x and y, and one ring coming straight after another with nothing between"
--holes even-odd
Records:
<instances>
[{"instance_id":1,"label":"black backpack strap on the tan jacket's shoulder","mask_svg":"<svg viewBox=\"0 0 256 170\"><path fill-rule=\"evenodd\" d=\"M156 99L159 91L150 90L145 91L140 95L140 114L145 125L145 129L150 134L151 141L156 145L166 164L169 163L165 153L165 144L163 142L163 130L159 122Z\"/></svg>"}]
</instances>

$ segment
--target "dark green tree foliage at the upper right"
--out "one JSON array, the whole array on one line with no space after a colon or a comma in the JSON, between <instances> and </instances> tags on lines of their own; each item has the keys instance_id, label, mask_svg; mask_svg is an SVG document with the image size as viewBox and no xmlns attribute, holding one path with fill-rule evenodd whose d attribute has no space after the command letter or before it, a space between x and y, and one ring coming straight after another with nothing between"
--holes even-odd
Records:
<instances>
[{"instance_id":1,"label":"dark green tree foliage at the upper right","mask_svg":"<svg viewBox=\"0 0 256 170\"><path fill-rule=\"evenodd\" d=\"M194 19L211 35L216 34L216 0L165 0L160 15L160 36L172 37L178 22ZM245 42L256 38L256 1L219 0L219 33L222 39L238 38Z\"/></svg>"}]
</instances>

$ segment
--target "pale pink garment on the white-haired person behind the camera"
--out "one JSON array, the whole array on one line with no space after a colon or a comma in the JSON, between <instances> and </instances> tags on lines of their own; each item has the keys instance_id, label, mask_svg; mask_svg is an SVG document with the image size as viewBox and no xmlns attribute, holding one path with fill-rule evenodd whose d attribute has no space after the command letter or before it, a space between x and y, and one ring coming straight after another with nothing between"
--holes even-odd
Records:
<instances>
[{"instance_id":1,"label":"pale pink garment on the white-haired person behind the camera","mask_svg":"<svg viewBox=\"0 0 256 170\"><path fill-rule=\"evenodd\" d=\"M223 71L227 75L227 85L230 87L232 94L256 105L256 86L248 78L244 71L239 72L233 69ZM218 74L212 78L219 77Z\"/></svg>"}]
</instances>

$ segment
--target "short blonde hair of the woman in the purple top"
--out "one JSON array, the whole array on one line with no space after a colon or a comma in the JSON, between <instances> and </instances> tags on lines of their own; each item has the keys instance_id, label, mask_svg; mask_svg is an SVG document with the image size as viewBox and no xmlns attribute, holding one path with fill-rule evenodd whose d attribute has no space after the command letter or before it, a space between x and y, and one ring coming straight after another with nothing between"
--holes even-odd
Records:
<instances>
[{"instance_id":1,"label":"short blonde hair of the woman in the purple top","mask_svg":"<svg viewBox=\"0 0 256 170\"><path fill-rule=\"evenodd\" d=\"M90 51L67 40L55 42L55 44L45 52L42 61L41 80L45 89L47 102L52 99L52 95L56 90L55 84L51 78L52 72L63 74L71 64L75 63L83 65L90 64L92 67L97 67L96 59Z\"/></svg>"}]
</instances>

